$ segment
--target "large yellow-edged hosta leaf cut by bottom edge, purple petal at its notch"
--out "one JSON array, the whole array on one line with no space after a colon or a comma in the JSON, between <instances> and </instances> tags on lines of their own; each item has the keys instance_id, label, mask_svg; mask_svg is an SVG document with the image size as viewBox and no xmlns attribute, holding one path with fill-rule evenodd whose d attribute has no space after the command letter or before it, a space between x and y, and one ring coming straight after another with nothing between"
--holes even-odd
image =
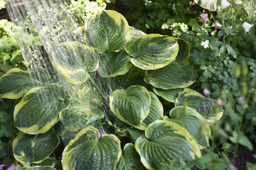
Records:
<instances>
[{"instance_id":1,"label":"large yellow-edged hosta leaf cut by bottom edge, purple petal at its notch","mask_svg":"<svg viewBox=\"0 0 256 170\"><path fill-rule=\"evenodd\" d=\"M63 170L116 169L121 154L118 137L87 127L65 147L61 162Z\"/></svg>"}]
</instances>

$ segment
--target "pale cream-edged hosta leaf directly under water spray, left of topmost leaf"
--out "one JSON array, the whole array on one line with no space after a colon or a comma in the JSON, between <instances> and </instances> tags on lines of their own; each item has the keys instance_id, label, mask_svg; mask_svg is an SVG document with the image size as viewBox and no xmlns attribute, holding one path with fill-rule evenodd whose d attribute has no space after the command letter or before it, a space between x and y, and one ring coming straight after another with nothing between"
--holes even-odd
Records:
<instances>
[{"instance_id":1,"label":"pale cream-edged hosta leaf directly under water spray, left of topmost leaf","mask_svg":"<svg viewBox=\"0 0 256 170\"><path fill-rule=\"evenodd\" d=\"M80 42L62 42L55 47L53 67L65 80L72 84L82 84L88 72L97 70L99 59L92 47Z\"/></svg>"}]
</instances>

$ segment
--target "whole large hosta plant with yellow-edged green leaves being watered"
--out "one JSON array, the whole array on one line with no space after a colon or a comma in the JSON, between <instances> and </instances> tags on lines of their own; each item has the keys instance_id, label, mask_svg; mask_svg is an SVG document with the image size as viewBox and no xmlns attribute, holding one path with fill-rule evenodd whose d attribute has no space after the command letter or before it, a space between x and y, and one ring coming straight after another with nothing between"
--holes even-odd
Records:
<instances>
[{"instance_id":1,"label":"whole large hosta plant with yellow-edged green leaves being watered","mask_svg":"<svg viewBox=\"0 0 256 170\"><path fill-rule=\"evenodd\" d=\"M58 169L61 150L64 170L203 169L193 160L223 112L188 89L195 79L186 42L146 35L116 11L95 13L78 30L83 41L53 43L60 78L47 68L0 78L1 97L17 101L16 160ZM45 77L30 77L38 72Z\"/></svg>"}]
</instances>

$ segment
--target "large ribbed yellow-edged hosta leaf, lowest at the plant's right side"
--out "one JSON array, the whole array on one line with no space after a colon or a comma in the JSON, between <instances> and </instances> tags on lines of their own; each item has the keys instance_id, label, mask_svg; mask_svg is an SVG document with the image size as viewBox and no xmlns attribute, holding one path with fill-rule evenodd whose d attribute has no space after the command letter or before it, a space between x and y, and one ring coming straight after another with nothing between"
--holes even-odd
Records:
<instances>
[{"instance_id":1,"label":"large ribbed yellow-edged hosta leaf, lowest at the plant's right side","mask_svg":"<svg viewBox=\"0 0 256 170\"><path fill-rule=\"evenodd\" d=\"M201 157L195 138L176 123L156 120L149 125L145 134L146 138L137 139L135 149L147 169L164 169L173 161L174 167L179 167L182 163Z\"/></svg>"}]
</instances>

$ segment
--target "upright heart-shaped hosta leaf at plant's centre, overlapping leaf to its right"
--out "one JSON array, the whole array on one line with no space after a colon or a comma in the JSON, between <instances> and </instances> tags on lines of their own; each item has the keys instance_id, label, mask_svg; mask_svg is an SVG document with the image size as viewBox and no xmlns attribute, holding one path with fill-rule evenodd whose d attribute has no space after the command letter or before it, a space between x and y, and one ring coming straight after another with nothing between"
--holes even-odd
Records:
<instances>
[{"instance_id":1,"label":"upright heart-shaped hosta leaf at plant's centre, overlapping leaf to its right","mask_svg":"<svg viewBox=\"0 0 256 170\"><path fill-rule=\"evenodd\" d=\"M110 109L114 115L130 125L139 125L149 115L151 96L144 86L129 86L110 95Z\"/></svg>"}]
</instances>

